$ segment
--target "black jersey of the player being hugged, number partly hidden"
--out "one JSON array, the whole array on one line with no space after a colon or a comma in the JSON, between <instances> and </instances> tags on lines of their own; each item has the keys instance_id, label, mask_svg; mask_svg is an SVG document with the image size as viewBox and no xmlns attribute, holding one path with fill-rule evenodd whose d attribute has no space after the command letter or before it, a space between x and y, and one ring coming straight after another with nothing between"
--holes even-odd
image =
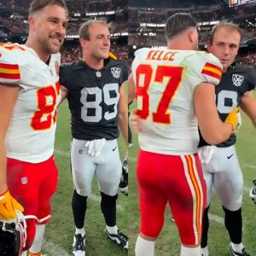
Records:
<instances>
[{"instance_id":1,"label":"black jersey of the player being hugged, number partly hidden","mask_svg":"<svg viewBox=\"0 0 256 256\"><path fill-rule=\"evenodd\" d=\"M235 63L223 73L219 84L215 87L216 106L218 115L223 121L230 111L240 105L241 96L247 91L255 89L256 73L253 68L242 67ZM224 143L217 146L219 148L230 147L236 143L236 134L232 134ZM208 145L200 134L199 147Z\"/></svg>"}]
</instances>

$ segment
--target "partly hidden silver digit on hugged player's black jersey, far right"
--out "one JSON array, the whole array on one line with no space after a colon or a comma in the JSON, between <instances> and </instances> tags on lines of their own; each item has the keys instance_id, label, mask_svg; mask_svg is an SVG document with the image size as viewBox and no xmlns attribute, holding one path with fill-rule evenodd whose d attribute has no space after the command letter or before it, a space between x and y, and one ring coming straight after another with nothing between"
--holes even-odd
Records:
<instances>
[{"instance_id":1,"label":"partly hidden silver digit on hugged player's black jersey, far right","mask_svg":"<svg viewBox=\"0 0 256 256\"><path fill-rule=\"evenodd\" d=\"M221 90L218 93L218 112L219 113L230 113L233 108L237 106L238 94L236 91L232 90ZM226 102L229 102L227 104Z\"/></svg>"}]
</instances>

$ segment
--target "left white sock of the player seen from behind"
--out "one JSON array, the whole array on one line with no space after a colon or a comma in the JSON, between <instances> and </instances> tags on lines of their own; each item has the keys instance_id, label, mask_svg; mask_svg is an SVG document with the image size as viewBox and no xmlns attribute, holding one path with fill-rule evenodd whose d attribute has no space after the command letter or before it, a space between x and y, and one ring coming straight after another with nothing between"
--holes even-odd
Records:
<instances>
[{"instance_id":1,"label":"left white sock of the player seen from behind","mask_svg":"<svg viewBox=\"0 0 256 256\"><path fill-rule=\"evenodd\" d=\"M155 241L149 241L143 239L142 236L137 236L137 241L135 245L135 255L136 256L154 256L154 243Z\"/></svg>"}]
</instances>

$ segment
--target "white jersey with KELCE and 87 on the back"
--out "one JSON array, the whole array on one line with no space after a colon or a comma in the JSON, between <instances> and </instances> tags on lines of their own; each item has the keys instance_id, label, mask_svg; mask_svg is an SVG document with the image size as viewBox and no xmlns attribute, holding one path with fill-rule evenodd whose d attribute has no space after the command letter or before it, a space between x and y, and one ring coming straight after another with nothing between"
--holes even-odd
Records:
<instances>
[{"instance_id":1,"label":"white jersey with KELCE and 87 on the back","mask_svg":"<svg viewBox=\"0 0 256 256\"><path fill-rule=\"evenodd\" d=\"M143 48L135 53L132 73L143 119L140 148L159 154L197 152L193 94L202 82L219 83L218 59L202 51Z\"/></svg>"}]
</instances>

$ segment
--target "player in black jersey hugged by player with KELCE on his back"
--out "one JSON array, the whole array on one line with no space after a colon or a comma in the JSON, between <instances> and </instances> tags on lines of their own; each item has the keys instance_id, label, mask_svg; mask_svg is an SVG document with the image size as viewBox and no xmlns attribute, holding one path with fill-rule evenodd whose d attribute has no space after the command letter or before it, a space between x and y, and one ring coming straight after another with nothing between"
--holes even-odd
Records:
<instances>
[{"instance_id":1,"label":"player in black jersey hugged by player with KELCE on his back","mask_svg":"<svg viewBox=\"0 0 256 256\"><path fill-rule=\"evenodd\" d=\"M253 97L256 73L252 68L241 67L234 62L241 30L235 24L220 23L212 28L208 51L217 56L224 67L220 83L216 87L216 105L220 119L226 119L232 108L240 106L256 127L256 100ZM207 232L209 228L208 211L214 185L224 210L225 227L230 235L232 255L248 256L241 242L242 220L241 199L243 177L236 155L236 135L233 133L224 143L209 147L201 138L202 168L207 182L207 207L203 216L202 254L208 255ZM210 148L210 149L209 149ZM207 150L207 153L206 153Z\"/></svg>"}]
</instances>

